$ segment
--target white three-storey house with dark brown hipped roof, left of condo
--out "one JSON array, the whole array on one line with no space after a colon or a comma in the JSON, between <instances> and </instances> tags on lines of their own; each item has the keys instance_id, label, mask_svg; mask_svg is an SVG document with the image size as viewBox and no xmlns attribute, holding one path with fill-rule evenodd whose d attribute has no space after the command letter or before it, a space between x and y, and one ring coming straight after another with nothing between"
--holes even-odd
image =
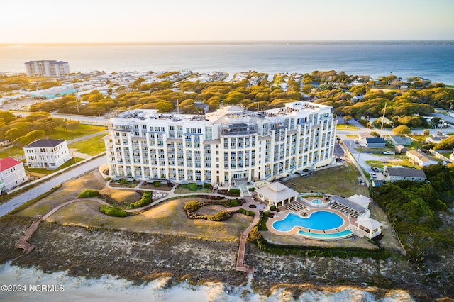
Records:
<instances>
[{"instance_id":1,"label":"white three-storey house with dark brown hipped roof, left of condo","mask_svg":"<svg viewBox=\"0 0 454 302\"><path fill-rule=\"evenodd\" d=\"M29 168L53 170L71 159L66 140L35 140L23 152Z\"/></svg>"}]
</instances>

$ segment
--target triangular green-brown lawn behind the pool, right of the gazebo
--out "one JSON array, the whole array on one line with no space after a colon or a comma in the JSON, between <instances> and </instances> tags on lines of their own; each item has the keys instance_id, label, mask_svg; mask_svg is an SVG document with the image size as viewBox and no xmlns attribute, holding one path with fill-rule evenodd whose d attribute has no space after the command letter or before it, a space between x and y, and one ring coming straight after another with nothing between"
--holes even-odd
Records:
<instances>
[{"instance_id":1,"label":"triangular green-brown lawn behind the pool, right of the gazebo","mask_svg":"<svg viewBox=\"0 0 454 302\"><path fill-rule=\"evenodd\" d=\"M353 164L345 163L342 166L317 171L309 177L289 179L284 181L284 184L301 193L320 191L345 197L354 194L369 196L367 186L361 186L358 177L360 174Z\"/></svg>"}]
</instances>

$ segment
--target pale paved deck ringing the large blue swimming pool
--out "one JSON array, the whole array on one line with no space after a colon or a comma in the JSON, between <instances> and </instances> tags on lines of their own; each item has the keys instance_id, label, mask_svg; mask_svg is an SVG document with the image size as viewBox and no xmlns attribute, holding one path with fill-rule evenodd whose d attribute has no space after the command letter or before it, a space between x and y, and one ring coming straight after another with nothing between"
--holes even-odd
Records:
<instances>
[{"instance_id":1,"label":"pale paved deck ringing the large blue swimming pool","mask_svg":"<svg viewBox=\"0 0 454 302\"><path fill-rule=\"evenodd\" d=\"M309 197L309 198L305 198L305 199L306 199L306 201L305 200L297 201L298 203L302 203L306 207L301 210L288 209L288 208L295 208L292 206L292 203L285 205L283 207L280 207L279 213L275 214L275 216L273 218L270 218L267 220L268 230L271 233L274 233L276 235L284 235L284 236L285 235L301 235L301 234L298 234L298 232L300 230L303 230L308 233L314 233L314 234L336 234L336 233L341 233L344 230L348 230L348 226L350 224L355 223L355 220L356 220L355 218L348 218L347 216L345 216L344 213L341 213L340 211L336 211L334 209L329 208L328 201L324 200L323 198ZM319 205L319 206L314 206L313 203L311 203L311 199L320 199L321 201L323 201L323 204ZM338 216L340 216L343 219L343 225L341 225L338 228L334 228L334 229L330 229L330 230L312 230L309 228L303 228L303 227L298 226L298 227L292 228L292 230L289 230L287 232L282 232L282 231L276 230L275 228L272 227L272 223L274 223L277 220L283 220L284 218L287 217L287 215L289 213L297 213L299 216L304 218L304 217L309 217L309 216L311 216L311 213L318 212L318 211L326 211L326 212L331 212L331 213L337 214ZM306 213L306 215L304 215L304 213ZM304 236L304 235L302 235L302 236ZM336 239L331 239L331 240L336 240Z\"/></svg>"}]
</instances>

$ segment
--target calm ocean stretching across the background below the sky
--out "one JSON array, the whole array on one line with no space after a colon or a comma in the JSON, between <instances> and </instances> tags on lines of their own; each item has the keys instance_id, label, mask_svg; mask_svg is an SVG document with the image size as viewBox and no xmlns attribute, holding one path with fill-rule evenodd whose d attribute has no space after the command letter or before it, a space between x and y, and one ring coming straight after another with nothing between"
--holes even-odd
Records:
<instances>
[{"instance_id":1,"label":"calm ocean stretching across the background below the sky","mask_svg":"<svg viewBox=\"0 0 454 302\"><path fill-rule=\"evenodd\" d=\"M454 84L454 44L0 46L0 72L26 72L29 60L62 60L72 72L94 70L394 74Z\"/></svg>"}]
</instances>

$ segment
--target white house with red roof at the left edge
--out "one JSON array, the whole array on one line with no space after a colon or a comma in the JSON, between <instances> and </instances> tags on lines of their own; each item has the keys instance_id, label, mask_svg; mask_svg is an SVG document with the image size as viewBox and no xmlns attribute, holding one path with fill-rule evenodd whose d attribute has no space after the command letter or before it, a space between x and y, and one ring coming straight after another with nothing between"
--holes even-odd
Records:
<instances>
[{"instance_id":1,"label":"white house with red roof at the left edge","mask_svg":"<svg viewBox=\"0 0 454 302\"><path fill-rule=\"evenodd\" d=\"M0 193L11 190L27 181L23 162L6 157L0 160Z\"/></svg>"}]
</instances>

